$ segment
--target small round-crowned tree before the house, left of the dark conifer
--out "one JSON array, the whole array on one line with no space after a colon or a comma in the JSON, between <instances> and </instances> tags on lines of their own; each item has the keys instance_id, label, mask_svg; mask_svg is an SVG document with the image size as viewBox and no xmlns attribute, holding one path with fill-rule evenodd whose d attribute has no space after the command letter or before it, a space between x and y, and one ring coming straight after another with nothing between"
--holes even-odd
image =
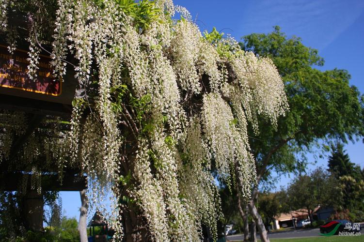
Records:
<instances>
[{"instance_id":1,"label":"small round-crowned tree before the house, left of the dark conifer","mask_svg":"<svg viewBox=\"0 0 364 242\"><path fill-rule=\"evenodd\" d=\"M287 189L290 210L308 212L312 225L312 214L317 206L334 205L339 194L336 184L337 181L322 168L317 168L310 174L298 176Z\"/></svg>"}]
</instances>

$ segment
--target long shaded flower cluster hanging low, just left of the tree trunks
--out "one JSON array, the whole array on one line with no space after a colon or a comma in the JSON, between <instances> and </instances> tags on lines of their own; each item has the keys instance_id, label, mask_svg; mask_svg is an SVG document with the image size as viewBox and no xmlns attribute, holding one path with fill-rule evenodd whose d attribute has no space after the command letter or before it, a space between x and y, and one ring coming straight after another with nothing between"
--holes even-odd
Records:
<instances>
[{"instance_id":1,"label":"long shaded flower cluster hanging low, just left of the tree trunks","mask_svg":"<svg viewBox=\"0 0 364 242\"><path fill-rule=\"evenodd\" d=\"M182 154L180 156L180 191L187 211L198 223L211 228L217 236L217 220L220 216L220 197L211 170L211 153L202 135L201 120L191 117L186 130ZM196 224L200 227L201 224Z\"/></svg>"}]
</instances>

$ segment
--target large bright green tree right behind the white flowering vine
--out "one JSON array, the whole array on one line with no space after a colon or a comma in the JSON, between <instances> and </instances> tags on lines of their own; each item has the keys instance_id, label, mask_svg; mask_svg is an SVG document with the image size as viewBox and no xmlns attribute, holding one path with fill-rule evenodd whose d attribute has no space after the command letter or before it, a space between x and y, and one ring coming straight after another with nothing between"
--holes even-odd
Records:
<instances>
[{"instance_id":1,"label":"large bright green tree right behind the white flowering vine","mask_svg":"<svg viewBox=\"0 0 364 242\"><path fill-rule=\"evenodd\" d=\"M363 96L349 85L348 71L315 69L324 64L317 50L304 46L298 37L287 38L279 27L269 34L247 35L240 45L274 62L284 80L290 106L290 112L279 119L277 128L260 119L259 134L253 129L249 131L258 184L269 182L272 171L283 174L304 170L305 153L319 141L346 143L363 136ZM261 231L262 220L254 212L257 187L249 207Z\"/></svg>"}]
</instances>

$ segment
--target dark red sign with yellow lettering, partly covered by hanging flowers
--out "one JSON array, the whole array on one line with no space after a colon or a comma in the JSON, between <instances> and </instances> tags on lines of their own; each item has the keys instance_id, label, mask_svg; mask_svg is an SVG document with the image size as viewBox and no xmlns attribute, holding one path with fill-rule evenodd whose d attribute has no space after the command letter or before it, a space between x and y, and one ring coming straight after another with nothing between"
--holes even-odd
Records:
<instances>
[{"instance_id":1,"label":"dark red sign with yellow lettering, partly covered by hanging flowers","mask_svg":"<svg viewBox=\"0 0 364 242\"><path fill-rule=\"evenodd\" d=\"M50 57L39 55L37 76L28 76L28 51L16 49L9 54L6 46L0 45L0 87L31 91L51 96L62 93L62 81L54 78L49 61Z\"/></svg>"}]
</instances>

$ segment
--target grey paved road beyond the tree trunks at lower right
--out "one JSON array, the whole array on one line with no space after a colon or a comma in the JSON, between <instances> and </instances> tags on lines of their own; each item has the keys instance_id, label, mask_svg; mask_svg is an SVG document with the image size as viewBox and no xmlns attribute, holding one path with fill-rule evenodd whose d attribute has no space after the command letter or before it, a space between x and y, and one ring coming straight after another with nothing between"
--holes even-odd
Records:
<instances>
[{"instance_id":1,"label":"grey paved road beyond the tree trunks at lower right","mask_svg":"<svg viewBox=\"0 0 364 242\"><path fill-rule=\"evenodd\" d=\"M284 239L284 238L300 238L300 237L315 237L319 236L320 229L313 228L313 229L297 229L291 231L284 231L284 232L275 232L269 233L269 239ZM361 229L362 235L364 235L364 228ZM259 239L259 233L256 233L257 239ZM236 234L227 236L227 241L242 241L244 240L244 235Z\"/></svg>"}]
</instances>

